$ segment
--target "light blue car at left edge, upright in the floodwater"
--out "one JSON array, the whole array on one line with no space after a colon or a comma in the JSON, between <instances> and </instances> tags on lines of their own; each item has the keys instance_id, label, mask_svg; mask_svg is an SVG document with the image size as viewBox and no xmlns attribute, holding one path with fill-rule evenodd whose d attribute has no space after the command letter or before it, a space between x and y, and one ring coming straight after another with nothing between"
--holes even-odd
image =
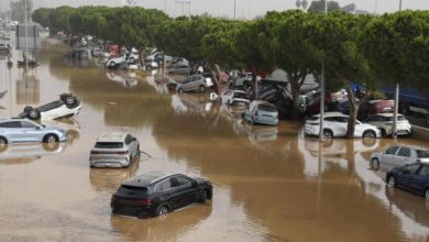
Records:
<instances>
[{"instance_id":1,"label":"light blue car at left edge, upright in the floodwater","mask_svg":"<svg viewBox=\"0 0 429 242\"><path fill-rule=\"evenodd\" d=\"M0 120L0 146L21 142L62 142L66 141L66 131L41 125L28 119Z\"/></svg>"}]
</instances>

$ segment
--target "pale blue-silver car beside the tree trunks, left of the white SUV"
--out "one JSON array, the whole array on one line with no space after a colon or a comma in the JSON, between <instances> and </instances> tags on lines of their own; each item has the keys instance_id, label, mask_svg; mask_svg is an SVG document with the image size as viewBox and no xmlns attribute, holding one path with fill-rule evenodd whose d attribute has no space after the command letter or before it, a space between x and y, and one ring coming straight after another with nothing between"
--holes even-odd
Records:
<instances>
[{"instance_id":1,"label":"pale blue-silver car beside the tree trunks, left of the white SUV","mask_svg":"<svg viewBox=\"0 0 429 242\"><path fill-rule=\"evenodd\" d=\"M267 101L253 100L244 111L244 119L252 124L275 125L278 123L278 111Z\"/></svg>"}]
</instances>

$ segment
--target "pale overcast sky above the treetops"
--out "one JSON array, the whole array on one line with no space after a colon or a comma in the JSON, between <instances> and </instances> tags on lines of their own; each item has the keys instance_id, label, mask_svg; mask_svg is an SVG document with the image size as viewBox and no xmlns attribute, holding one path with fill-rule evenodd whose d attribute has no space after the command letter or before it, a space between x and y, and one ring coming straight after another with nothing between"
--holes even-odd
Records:
<instances>
[{"instance_id":1,"label":"pale overcast sky above the treetops","mask_svg":"<svg viewBox=\"0 0 429 242\"><path fill-rule=\"evenodd\" d=\"M2 4L9 2L8 0L0 0ZM122 6L125 0L33 0L34 7L51 7L58 6ZM170 16L188 14L189 6L177 3L176 0L129 0L135 1L136 6L144 8L165 9L167 6L167 13ZM186 1L186 0L185 0ZM266 11L277 10L283 11L294 9L296 0L235 0L237 16L252 19L256 15L263 15ZM308 0L311 2L311 0ZM399 9L399 0L338 0L340 6L345 6L354 2L356 9L366 10L369 12L395 12ZM234 0L191 0L190 11L193 14L200 14L209 12L215 16L233 16ZM403 9L413 10L429 10L429 0L403 0Z\"/></svg>"}]
</instances>

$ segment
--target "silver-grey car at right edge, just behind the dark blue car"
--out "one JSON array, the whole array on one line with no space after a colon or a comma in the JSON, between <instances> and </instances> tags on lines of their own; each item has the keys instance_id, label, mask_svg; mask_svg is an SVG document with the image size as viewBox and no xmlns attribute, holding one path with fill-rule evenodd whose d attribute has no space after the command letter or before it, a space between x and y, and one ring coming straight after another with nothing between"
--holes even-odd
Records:
<instances>
[{"instance_id":1,"label":"silver-grey car at right edge, just behind the dark blue car","mask_svg":"<svg viewBox=\"0 0 429 242\"><path fill-rule=\"evenodd\" d=\"M393 145L371 156L371 168L393 168L416 162L429 162L429 148L414 145Z\"/></svg>"}]
</instances>

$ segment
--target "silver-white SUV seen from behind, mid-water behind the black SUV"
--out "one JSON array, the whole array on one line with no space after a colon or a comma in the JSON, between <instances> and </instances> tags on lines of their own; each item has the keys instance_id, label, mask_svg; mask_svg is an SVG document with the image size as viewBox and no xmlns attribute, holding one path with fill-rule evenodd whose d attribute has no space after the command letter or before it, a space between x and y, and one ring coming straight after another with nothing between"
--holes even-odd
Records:
<instances>
[{"instance_id":1,"label":"silver-white SUV seen from behind, mid-water behind the black SUV","mask_svg":"<svg viewBox=\"0 0 429 242\"><path fill-rule=\"evenodd\" d=\"M138 139L125 132L106 132L91 148L89 164L91 167L124 167L139 155Z\"/></svg>"}]
</instances>

